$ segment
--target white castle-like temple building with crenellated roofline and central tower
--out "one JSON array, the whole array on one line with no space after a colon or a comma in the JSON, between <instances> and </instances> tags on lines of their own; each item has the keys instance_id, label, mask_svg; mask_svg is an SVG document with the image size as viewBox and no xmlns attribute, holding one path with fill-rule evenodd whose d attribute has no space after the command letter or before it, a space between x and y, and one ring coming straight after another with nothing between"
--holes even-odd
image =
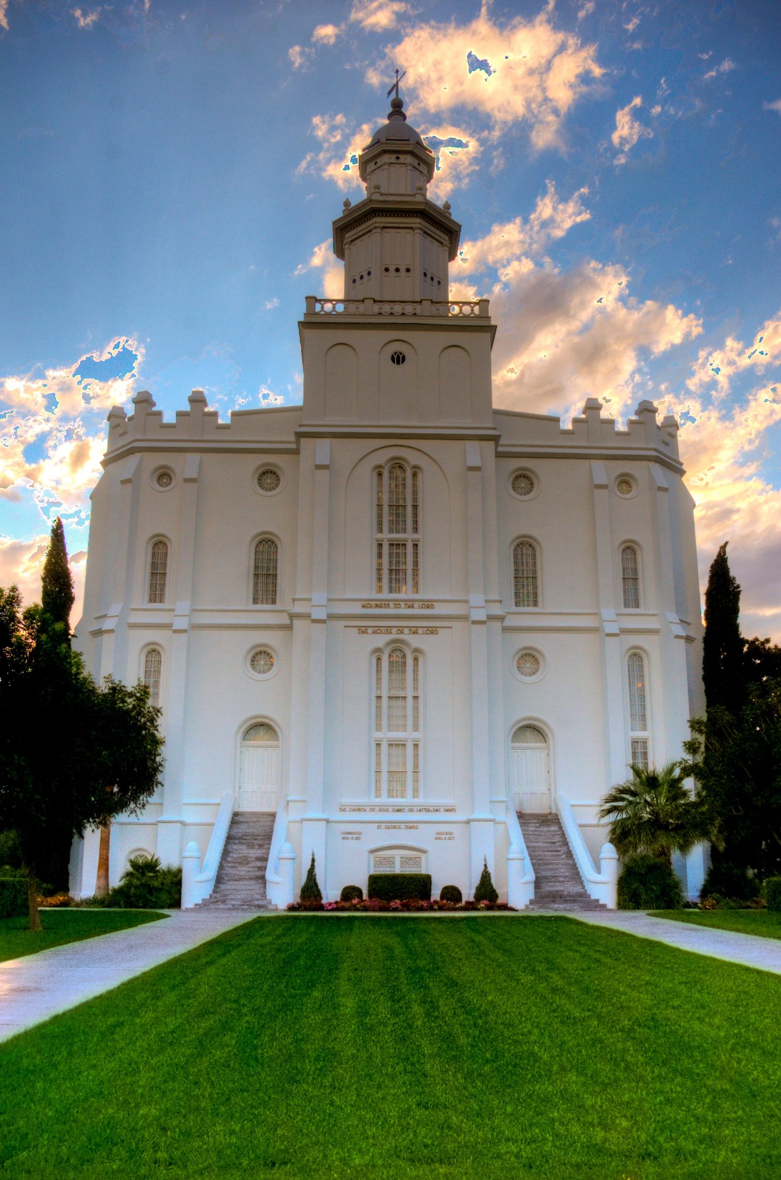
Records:
<instances>
[{"instance_id":1,"label":"white castle-like temple building with crenellated roofline and central tower","mask_svg":"<svg viewBox=\"0 0 781 1180\"><path fill-rule=\"evenodd\" d=\"M615 904L599 800L703 709L676 420L493 407L495 326L448 302L434 166L393 99L333 225L344 297L298 323L302 405L109 414L77 645L149 684L166 759L112 825L112 884L145 851L184 865L184 904L283 906L314 852L326 899L375 871L468 897L485 858L514 905L562 900L573 865ZM88 832L74 893L97 859ZM697 894L702 853L677 868Z\"/></svg>"}]
</instances>

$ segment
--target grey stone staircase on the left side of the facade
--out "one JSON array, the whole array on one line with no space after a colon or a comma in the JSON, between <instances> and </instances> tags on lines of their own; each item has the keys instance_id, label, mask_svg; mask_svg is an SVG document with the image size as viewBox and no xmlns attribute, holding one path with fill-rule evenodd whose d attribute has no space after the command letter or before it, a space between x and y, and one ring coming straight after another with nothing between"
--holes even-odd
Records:
<instances>
[{"instance_id":1,"label":"grey stone staircase on the left side of the facade","mask_svg":"<svg viewBox=\"0 0 781 1180\"><path fill-rule=\"evenodd\" d=\"M234 812L211 896L196 910L273 910L265 896L273 812Z\"/></svg>"}]
</instances>

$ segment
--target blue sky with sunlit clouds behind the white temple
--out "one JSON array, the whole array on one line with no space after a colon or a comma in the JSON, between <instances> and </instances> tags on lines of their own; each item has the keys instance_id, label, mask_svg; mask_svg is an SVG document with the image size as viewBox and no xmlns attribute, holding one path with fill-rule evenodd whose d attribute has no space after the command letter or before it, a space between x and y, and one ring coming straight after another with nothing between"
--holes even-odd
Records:
<instances>
[{"instance_id":1,"label":"blue sky with sunlit clouds behind the white temple","mask_svg":"<svg viewBox=\"0 0 781 1180\"><path fill-rule=\"evenodd\" d=\"M497 405L675 413L701 564L781 636L780 61L763 0L0 0L0 584L58 511L86 549L112 402L300 400L398 65Z\"/></svg>"}]
</instances>

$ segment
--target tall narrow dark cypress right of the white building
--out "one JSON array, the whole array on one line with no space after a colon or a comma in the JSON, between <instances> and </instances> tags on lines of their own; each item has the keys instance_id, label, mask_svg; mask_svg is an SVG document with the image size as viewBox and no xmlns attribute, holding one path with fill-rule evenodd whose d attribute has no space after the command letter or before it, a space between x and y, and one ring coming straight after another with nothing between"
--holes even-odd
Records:
<instances>
[{"instance_id":1,"label":"tall narrow dark cypress right of the white building","mask_svg":"<svg viewBox=\"0 0 781 1180\"><path fill-rule=\"evenodd\" d=\"M736 714L744 696L743 640L739 623L741 588L729 569L727 545L724 542L720 548L708 575L702 678L708 708L722 706Z\"/></svg>"}]
</instances>

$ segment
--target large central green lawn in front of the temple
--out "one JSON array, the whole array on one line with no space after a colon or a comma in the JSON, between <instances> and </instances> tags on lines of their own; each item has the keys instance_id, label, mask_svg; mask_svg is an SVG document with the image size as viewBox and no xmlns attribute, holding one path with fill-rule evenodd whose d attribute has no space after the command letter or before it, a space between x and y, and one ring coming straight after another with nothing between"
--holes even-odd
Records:
<instances>
[{"instance_id":1,"label":"large central green lawn in front of the temple","mask_svg":"<svg viewBox=\"0 0 781 1180\"><path fill-rule=\"evenodd\" d=\"M565 917L261 918L0 1045L0 1173L781 1176L781 978Z\"/></svg>"}]
</instances>

